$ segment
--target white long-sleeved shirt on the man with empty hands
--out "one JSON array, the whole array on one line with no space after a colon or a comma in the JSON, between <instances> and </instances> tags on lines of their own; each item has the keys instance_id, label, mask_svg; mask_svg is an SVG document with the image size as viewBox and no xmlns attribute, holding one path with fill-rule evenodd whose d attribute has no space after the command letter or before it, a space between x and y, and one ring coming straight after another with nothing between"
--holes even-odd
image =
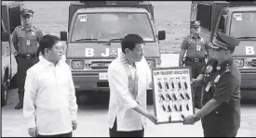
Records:
<instances>
[{"instance_id":1,"label":"white long-sleeved shirt on the man with empty hands","mask_svg":"<svg viewBox=\"0 0 256 138\"><path fill-rule=\"evenodd\" d=\"M27 70L23 115L28 128L37 127L42 135L72 132L77 105L74 82L69 66L56 66L44 57Z\"/></svg>"}]
</instances>

